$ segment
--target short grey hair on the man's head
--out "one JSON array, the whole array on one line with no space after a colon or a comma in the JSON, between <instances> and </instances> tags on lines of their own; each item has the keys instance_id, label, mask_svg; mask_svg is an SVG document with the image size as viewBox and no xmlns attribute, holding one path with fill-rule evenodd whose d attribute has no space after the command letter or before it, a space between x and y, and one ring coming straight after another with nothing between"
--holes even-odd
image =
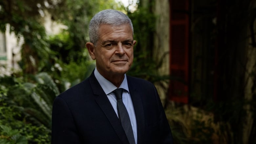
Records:
<instances>
[{"instance_id":1,"label":"short grey hair on the man's head","mask_svg":"<svg viewBox=\"0 0 256 144\"><path fill-rule=\"evenodd\" d=\"M129 24L133 31L132 21L126 14L114 9L102 10L91 19L89 25L90 42L94 45L96 45L98 41L98 29L101 24L107 24L110 26L120 26L123 24Z\"/></svg>"}]
</instances>

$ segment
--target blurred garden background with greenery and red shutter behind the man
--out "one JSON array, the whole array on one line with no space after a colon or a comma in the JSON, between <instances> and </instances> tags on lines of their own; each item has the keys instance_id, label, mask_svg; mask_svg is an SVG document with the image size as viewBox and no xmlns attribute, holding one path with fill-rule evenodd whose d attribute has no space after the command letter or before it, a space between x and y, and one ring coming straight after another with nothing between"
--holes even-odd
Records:
<instances>
[{"instance_id":1,"label":"blurred garden background with greenery and red shutter behind the man","mask_svg":"<svg viewBox=\"0 0 256 144\"><path fill-rule=\"evenodd\" d=\"M131 18L128 75L156 85L176 144L256 143L255 0L1 0L1 144L50 143L54 98L95 68L103 9Z\"/></svg>"}]
</instances>

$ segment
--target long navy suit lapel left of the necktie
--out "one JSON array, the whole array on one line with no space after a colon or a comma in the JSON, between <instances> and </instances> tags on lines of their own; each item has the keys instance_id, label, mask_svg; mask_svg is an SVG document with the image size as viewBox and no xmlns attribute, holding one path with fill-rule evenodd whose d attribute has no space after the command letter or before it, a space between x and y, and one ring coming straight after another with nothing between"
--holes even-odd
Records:
<instances>
[{"instance_id":1,"label":"long navy suit lapel left of the necktie","mask_svg":"<svg viewBox=\"0 0 256 144\"><path fill-rule=\"evenodd\" d=\"M129 144L125 132L122 128L122 125L117 117L117 114L115 113L109 99L107 98L106 94L104 93L103 89L101 88L100 84L95 78L94 71L89 77L89 81L92 86L94 95L96 95L96 103L99 105L105 116L108 118L113 129L116 131L116 134L120 138L121 142L123 144Z\"/></svg>"}]
</instances>

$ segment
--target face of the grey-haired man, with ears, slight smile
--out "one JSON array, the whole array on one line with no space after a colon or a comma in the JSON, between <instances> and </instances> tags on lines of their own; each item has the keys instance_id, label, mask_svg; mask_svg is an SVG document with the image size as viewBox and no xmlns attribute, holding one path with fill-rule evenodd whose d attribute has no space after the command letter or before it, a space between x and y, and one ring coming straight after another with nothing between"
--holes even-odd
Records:
<instances>
[{"instance_id":1,"label":"face of the grey-haired man, with ears, slight smile","mask_svg":"<svg viewBox=\"0 0 256 144\"><path fill-rule=\"evenodd\" d=\"M129 24L120 26L101 25L99 39L91 54L103 77L124 75L133 62L132 29Z\"/></svg>"}]
</instances>

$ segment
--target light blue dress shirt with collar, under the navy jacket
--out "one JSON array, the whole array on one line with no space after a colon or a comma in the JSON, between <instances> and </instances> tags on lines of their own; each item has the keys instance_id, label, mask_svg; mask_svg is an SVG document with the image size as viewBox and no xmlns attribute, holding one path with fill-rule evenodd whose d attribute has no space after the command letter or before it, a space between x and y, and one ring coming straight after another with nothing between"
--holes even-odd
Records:
<instances>
[{"instance_id":1,"label":"light blue dress shirt with collar, under the navy jacket","mask_svg":"<svg viewBox=\"0 0 256 144\"><path fill-rule=\"evenodd\" d=\"M100 86L102 87L103 91L107 95L111 105L113 106L113 108L114 108L114 110L117 114L117 99L116 99L116 96L113 92L115 89L117 89L117 87L113 83L111 83L110 81L105 79L98 72L97 68L95 68L95 70L94 70L94 75L95 75L97 81L99 82ZM124 89L122 99L123 99L123 103L124 103L124 105L127 109L129 117L130 117L132 128L133 128L133 135L134 135L135 143L137 144L137 122L136 122L136 116L135 116L135 112L134 112L132 98L131 98L129 88L128 88L126 75L124 75L124 79L123 79L121 85L118 88L123 88ZM117 114L117 117L118 117L118 114Z\"/></svg>"}]
</instances>

